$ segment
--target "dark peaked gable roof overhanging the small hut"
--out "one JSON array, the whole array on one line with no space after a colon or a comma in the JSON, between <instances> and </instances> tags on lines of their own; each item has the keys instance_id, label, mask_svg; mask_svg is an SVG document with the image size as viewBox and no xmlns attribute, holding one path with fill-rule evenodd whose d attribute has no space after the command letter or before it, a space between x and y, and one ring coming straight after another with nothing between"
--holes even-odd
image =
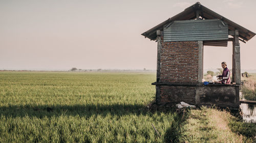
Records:
<instances>
[{"instance_id":1,"label":"dark peaked gable roof overhanging the small hut","mask_svg":"<svg viewBox=\"0 0 256 143\"><path fill-rule=\"evenodd\" d=\"M167 20L154 26L153 28L142 33L141 35L145 36L145 38L149 38L151 40L156 40L157 39L157 30L163 30L163 26L165 24L168 24L175 20L195 19L197 17L197 14L196 14L197 11L199 11L200 16L204 19L216 19L216 18L221 19L222 21L224 21L225 23L228 24L228 30L230 30L230 31L234 31L235 29L239 30L239 37L245 41L250 40L255 35L255 33L247 30L243 26L241 26L237 23L234 23L233 21L223 17L222 15L204 7L199 2L186 8L183 12L181 12L171 18L168 18Z\"/></svg>"}]
</instances>

